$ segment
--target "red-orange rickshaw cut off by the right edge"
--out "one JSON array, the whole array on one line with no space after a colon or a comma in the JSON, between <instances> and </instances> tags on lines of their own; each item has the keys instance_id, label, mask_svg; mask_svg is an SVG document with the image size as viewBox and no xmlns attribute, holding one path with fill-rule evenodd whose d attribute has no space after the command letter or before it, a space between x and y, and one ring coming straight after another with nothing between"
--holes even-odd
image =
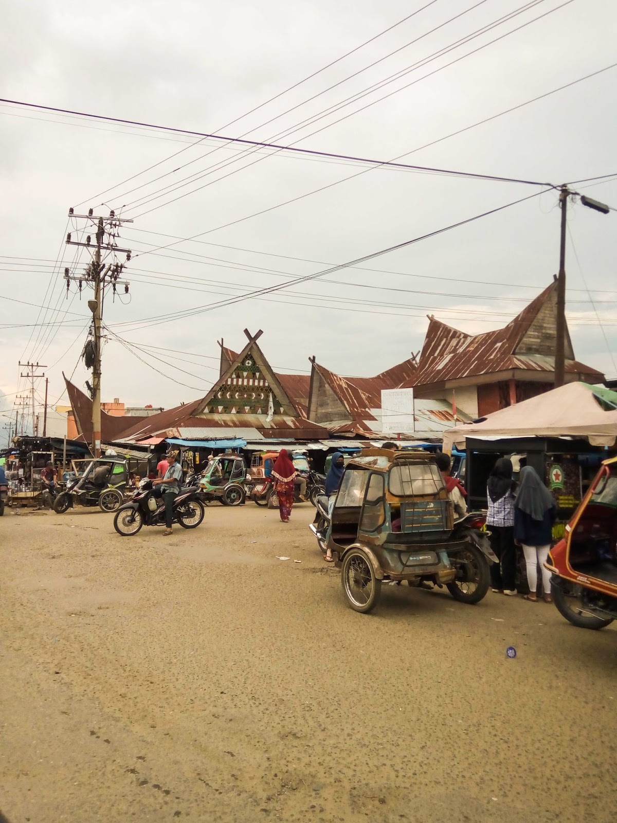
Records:
<instances>
[{"instance_id":1,"label":"red-orange rickshaw cut off by the right edge","mask_svg":"<svg viewBox=\"0 0 617 823\"><path fill-rule=\"evenodd\" d=\"M617 458L605 460L549 552L545 568L559 612L582 629L617 618Z\"/></svg>"}]
</instances>

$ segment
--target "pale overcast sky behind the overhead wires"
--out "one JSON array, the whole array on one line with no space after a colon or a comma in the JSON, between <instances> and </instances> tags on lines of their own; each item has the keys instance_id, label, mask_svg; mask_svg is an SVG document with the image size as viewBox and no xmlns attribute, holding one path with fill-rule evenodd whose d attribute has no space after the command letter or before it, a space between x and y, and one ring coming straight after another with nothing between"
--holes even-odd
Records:
<instances>
[{"instance_id":1,"label":"pale overcast sky behind the overhead wires","mask_svg":"<svg viewBox=\"0 0 617 823\"><path fill-rule=\"evenodd\" d=\"M347 156L389 160L408 153L401 162L539 183L617 173L617 68L441 139L615 62L613 0L525 5L527 11L457 46L517 12L522 0L109 0L104 6L8 0L0 96L200 133L299 141L299 147ZM401 50L386 58L395 49ZM406 73L339 109L397 72ZM325 109L330 114L313 123ZM263 329L260 345L281 370L308 372L308 356L315 355L341 374L377 374L420 349L426 314L469 332L498 328L558 269L559 209L550 192L360 270L146 324L360 258L540 189L285 151L248 154L238 144L207 139L194 145L197 138L179 133L13 105L0 105L0 118L3 414L21 388L20 358L49 366L50 402L63 392L63 370L74 371L81 388L88 378L78 359L91 295L85 290L80 301L72 286L63 299L64 266L78 273L88 259L63 244L71 206L104 215L124 206L123 216L135 220L120 242L133 250L125 270L129 298L113 302L108 295L104 305L112 332L146 350L126 349L112 335L105 345L103 400L118 397L127 405L171 407L201 396L218 374L216 341L224 337L239 350L244 328ZM186 185L189 175L197 182ZM310 194L329 184L336 185ZM576 188L617 207L617 182ZM612 377L616 219L617 212L604 216L573 205L567 258L575 353ZM193 235L201 235L199 242L156 250ZM54 267L58 253L63 258ZM40 306L50 308L39 314Z\"/></svg>"}]
</instances>

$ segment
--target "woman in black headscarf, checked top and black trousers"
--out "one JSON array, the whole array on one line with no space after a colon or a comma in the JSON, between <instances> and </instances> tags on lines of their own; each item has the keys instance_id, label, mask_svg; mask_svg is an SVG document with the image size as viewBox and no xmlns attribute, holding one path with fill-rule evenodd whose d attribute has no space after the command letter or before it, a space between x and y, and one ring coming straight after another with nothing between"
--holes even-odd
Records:
<instances>
[{"instance_id":1,"label":"woman in black headscarf, checked top and black trousers","mask_svg":"<svg viewBox=\"0 0 617 823\"><path fill-rule=\"evenodd\" d=\"M496 593L513 596L517 593L514 583L517 568L517 550L514 546L514 491L512 461L499 458L490 472L486 484L489 513L486 525L490 532L490 545L499 557L499 565L490 567L490 581Z\"/></svg>"}]
</instances>

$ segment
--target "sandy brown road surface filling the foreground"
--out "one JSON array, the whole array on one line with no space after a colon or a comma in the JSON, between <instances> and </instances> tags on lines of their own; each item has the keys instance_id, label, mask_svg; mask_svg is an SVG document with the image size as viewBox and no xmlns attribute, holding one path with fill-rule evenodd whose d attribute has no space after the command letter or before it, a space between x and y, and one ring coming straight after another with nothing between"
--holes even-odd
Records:
<instances>
[{"instance_id":1,"label":"sandy brown road surface filling the foreground","mask_svg":"<svg viewBox=\"0 0 617 823\"><path fill-rule=\"evenodd\" d=\"M87 509L7 511L11 823L614 821L614 627L405 586L358 615L312 512L212 506L122 538Z\"/></svg>"}]
</instances>

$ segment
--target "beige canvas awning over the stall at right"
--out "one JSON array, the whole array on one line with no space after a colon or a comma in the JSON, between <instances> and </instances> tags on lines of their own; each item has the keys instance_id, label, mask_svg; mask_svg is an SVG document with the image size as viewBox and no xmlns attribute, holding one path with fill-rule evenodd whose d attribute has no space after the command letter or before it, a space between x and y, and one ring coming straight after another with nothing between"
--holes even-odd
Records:
<instances>
[{"instance_id":1,"label":"beige canvas awning over the stall at right","mask_svg":"<svg viewBox=\"0 0 617 823\"><path fill-rule=\"evenodd\" d=\"M617 439L617 393L587 383L568 383L499 409L477 423L443 433L443 451L465 448L467 437L573 437L592 446Z\"/></svg>"}]
</instances>

